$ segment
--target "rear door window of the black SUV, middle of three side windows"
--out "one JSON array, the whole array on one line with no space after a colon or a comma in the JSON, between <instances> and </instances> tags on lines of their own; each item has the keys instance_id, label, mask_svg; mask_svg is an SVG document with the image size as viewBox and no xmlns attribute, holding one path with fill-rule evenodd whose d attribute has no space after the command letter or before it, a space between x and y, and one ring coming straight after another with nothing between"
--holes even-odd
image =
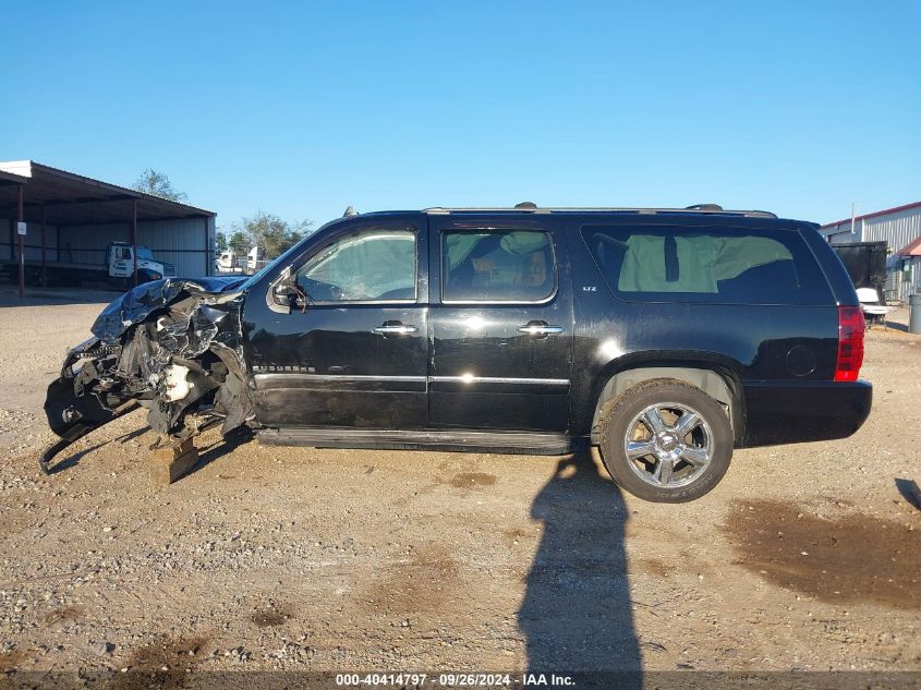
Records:
<instances>
[{"instance_id":1,"label":"rear door window of the black SUV, middle of three side windows","mask_svg":"<svg viewBox=\"0 0 921 690\"><path fill-rule=\"evenodd\" d=\"M556 291L550 235L534 230L444 232L446 302L542 302Z\"/></svg>"}]
</instances>

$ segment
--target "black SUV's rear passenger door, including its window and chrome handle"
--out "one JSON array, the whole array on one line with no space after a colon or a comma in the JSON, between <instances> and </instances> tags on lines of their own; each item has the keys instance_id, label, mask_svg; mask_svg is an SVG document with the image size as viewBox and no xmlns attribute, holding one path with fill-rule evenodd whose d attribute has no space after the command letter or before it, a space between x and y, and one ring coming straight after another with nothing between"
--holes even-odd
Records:
<instances>
[{"instance_id":1,"label":"black SUV's rear passenger door, including its window and chrome handle","mask_svg":"<svg viewBox=\"0 0 921 690\"><path fill-rule=\"evenodd\" d=\"M566 431L572 300L553 219L433 215L428 244L429 426Z\"/></svg>"}]
</instances>

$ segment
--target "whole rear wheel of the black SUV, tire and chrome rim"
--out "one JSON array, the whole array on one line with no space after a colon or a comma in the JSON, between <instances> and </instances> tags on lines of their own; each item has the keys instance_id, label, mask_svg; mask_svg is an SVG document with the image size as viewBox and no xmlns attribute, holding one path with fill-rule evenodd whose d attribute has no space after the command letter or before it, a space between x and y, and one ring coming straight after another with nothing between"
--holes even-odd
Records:
<instances>
[{"instance_id":1,"label":"whole rear wheel of the black SUV, tire and chrome rim","mask_svg":"<svg viewBox=\"0 0 921 690\"><path fill-rule=\"evenodd\" d=\"M686 503L726 474L732 428L722 405L700 388L655 379L604 404L601 446L621 488L654 503Z\"/></svg>"}]
</instances>

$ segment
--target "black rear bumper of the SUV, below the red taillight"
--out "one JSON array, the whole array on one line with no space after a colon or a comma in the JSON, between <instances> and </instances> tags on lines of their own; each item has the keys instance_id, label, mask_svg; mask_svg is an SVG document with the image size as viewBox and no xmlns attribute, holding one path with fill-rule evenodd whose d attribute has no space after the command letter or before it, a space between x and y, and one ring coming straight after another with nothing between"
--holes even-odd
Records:
<instances>
[{"instance_id":1,"label":"black rear bumper of the SUV, below the red taillight","mask_svg":"<svg viewBox=\"0 0 921 690\"><path fill-rule=\"evenodd\" d=\"M870 415L869 382L746 382L739 447L846 438Z\"/></svg>"}]
</instances>

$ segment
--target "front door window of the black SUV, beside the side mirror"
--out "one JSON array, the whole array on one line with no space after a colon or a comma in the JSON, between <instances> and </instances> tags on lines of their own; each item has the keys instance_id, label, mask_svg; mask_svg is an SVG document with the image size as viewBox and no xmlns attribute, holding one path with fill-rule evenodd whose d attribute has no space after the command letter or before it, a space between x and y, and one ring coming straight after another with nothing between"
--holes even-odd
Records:
<instances>
[{"instance_id":1,"label":"front door window of the black SUV, beside the side mirror","mask_svg":"<svg viewBox=\"0 0 921 690\"><path fill-rule=\"evenodd\" d=\"M362 230L322 249L298 269L308 302L415 300L412 230Z\"/></svg>"}]
</instances>

